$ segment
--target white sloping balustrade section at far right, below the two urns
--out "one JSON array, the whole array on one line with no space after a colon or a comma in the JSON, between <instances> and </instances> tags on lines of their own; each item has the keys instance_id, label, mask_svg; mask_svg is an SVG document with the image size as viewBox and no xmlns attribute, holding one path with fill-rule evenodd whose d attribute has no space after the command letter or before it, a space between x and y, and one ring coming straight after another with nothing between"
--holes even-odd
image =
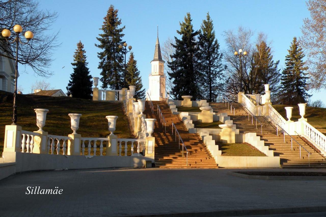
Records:
<instances>
[{"instance_id":1,"label":"white sloping balustrade section at far right, below the two urns","mask_svg":"<svg viewBox=\"0 0 326 217\"><path fill-rule=\"evenodd\" d=\"M304 121L303 136L313 141L322 150L326 151L326 136L306 121Z\"/></svg>"}]
</instances>

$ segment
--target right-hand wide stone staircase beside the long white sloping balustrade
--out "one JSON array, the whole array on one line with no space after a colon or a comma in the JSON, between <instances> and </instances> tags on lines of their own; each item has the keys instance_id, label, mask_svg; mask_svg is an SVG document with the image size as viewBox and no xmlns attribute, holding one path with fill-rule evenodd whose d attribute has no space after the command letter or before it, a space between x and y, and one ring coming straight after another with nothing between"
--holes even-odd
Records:
<instances>
[{"instance_id":1,"label":"right-hand wide stone staircase beside the long white sloping balustrade","mask_svg":"<svg viewBox=\"0 0 326 217\"><path fill-rule=\"evenodd\" d=\"M230 111L230 106L232 105L232 113ZM248 120L248 114L245 108L240 103L230 103L228 109L228 103L210 103L213 111L216 113L227 112L230 116L230 120L236 124L237 129L239 129L240 134L244 133L257 133L261 140L265 141L265 145L269 146L270 150L274 151L274 156L280 157L280 164L282 167L308 167L309 166L309 156L308 153L301 148L301 158L300 158L300 145L301 144L310 155L310 167L326 167L326 158L320 153L316 152L311 146L309 146L300 136L292 136L295 140L292 141L293 150L291 150L291 137L285 136L279 131L278 136L276 135L276 127L268 121L264 116L256 116L257 119L262 123L261 126L256 120L252 118L251 115ZM235 112L233 112L235 108ZM246 115L246 116L245 116Z\"/></svg>"}]
</instances>

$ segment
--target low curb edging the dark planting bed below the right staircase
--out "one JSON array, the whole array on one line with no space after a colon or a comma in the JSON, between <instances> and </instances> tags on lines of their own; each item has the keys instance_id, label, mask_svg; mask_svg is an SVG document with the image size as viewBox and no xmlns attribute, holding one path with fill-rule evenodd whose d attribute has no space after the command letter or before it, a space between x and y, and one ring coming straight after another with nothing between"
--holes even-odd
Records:
<instances>
[{"instance_id":1,"label":"low curb edging the dark planting bed below the right staircase","mask_svg":"<svg viewBox=\"0 0 326 217\"><path fill-rule=\"evenodd\" d=\"M227 174L245 179L261 180L326 180L326 176L251 176L237 172L227 172Z\"/></svg>"}]
</instances>

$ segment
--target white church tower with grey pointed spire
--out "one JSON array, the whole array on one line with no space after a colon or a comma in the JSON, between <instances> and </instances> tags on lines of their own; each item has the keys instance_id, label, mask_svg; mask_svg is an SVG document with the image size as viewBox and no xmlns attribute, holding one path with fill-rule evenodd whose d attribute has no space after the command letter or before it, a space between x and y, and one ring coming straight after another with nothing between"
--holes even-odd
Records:
<instances>
[{"instance_id":1,"label":"white church tower with grey pointed spire","mask_svg":"<svg viewBox=\"0 0 326 217\"><path fill-rule=\"evenodd\" d=\"M152 72L149 75L148 89L148 94L150 95L152 101L159 101L162 100L162 98L166 98L164 63L165 61L162 60L160 43L158 41L157 27L154 59L151 61Z\"/></svg>"}]
</instances>

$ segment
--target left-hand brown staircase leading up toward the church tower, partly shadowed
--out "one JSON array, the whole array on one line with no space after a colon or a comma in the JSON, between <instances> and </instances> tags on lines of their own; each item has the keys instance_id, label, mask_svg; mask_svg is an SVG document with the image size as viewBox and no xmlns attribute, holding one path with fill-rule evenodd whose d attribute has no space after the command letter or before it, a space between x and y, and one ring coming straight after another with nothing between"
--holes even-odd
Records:
<instances>
[{"instance_id":1,"label":"left-hand brown staircase leading up toward the church tower, partly shadowed","mask_svg":"<svg viewBox=\"0 0 326 217\"><path fill-rule=\"evenodd\" d=\"M146 101L145 111L146 118L156 118L154 133L155 137L155 165L156 167L169 168L185 168L185 167L200 167L200 168L218 168L214 158L202 143L201 137L198 134L188 133L183 121L179 115L174 115L166 102L152 101L154 105L154 114L149 106L149 101ZM157 113L157 105L160 107L163 117L166 121L165 126L160 123L159 114ZM175 135L175 130L172 134L172 122L175 124L185 146L188 150L188 164L186 152L182 153L182 142ZM176 139L176 141L175 141Z\"/></svg>"}]
</instances>

